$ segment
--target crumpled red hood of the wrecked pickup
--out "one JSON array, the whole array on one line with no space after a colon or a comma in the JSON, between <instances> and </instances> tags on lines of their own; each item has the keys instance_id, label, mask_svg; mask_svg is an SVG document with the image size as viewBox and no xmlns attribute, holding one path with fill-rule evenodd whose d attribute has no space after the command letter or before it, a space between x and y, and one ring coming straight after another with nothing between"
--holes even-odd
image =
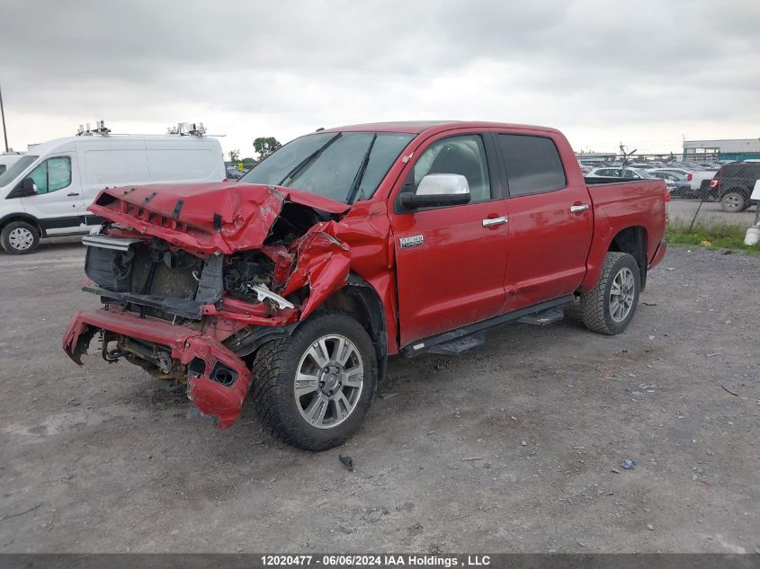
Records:
<instances>
[{"instance_id":1,"label":"crumpled red hood of the wrecked pickup","mask_svg":"<svg viewBox=\"0 0 760 569\"><path fill-rule=\"evenodd\" d=\"M261 247L286 201L332 214L351 209L306 191L230 182L112 188L88 209L191 252L229 254Z\"/></svg>"}]
</instances>

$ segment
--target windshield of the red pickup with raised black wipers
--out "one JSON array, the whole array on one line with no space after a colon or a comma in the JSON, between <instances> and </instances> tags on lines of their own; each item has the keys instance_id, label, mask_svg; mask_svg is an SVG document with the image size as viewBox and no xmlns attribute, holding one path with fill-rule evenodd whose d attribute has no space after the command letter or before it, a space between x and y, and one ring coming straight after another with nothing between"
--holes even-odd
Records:
<instances>
[{"instance_id":1,"label":"windshield of the red pickup with raised black wipers","mask_svg":"<svg viewBox=\"0 0 760 569\"><path fill-rule=\"evenodd\" d=\"M240 178L353 203L378 189L414 138L395 132L319 132L296 138Z\"/></svg>"}]
</instances>

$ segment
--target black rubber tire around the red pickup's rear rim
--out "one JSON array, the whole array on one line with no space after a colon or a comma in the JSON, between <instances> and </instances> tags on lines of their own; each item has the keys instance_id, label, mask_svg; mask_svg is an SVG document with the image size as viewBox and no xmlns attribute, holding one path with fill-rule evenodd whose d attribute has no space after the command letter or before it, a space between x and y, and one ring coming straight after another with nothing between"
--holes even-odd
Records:
<instances>
[{"instance_id":1,"label":"black rubber tire around the red pickup's rear rim","mask_svg":"<svg viewBox=\"0 0 760 569\"><path fill-rule=\"evenodd\" d=\"M624 270L630 271L633 275L630 285L633 296L628 313L618 320L611 314L611 291L616 277L619 274L627 274ZM633 315L636 314L640 290L641 278L636 259L628 253L607 253L604 257L599 281L594 289L586 293L580 301L583 323L586 328L598 333L617 334L624 332L633 319Z\"/></svg>"}]
</instances>

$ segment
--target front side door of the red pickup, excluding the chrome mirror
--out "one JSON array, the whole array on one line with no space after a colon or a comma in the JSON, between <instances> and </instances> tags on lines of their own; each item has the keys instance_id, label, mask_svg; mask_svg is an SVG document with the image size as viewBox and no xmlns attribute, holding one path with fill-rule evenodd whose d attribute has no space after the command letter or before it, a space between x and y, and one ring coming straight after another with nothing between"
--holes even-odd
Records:
<instances>
[{"instance_id":1,"label":"front side door of the red pickup, excluding the chrome mirror","mask_svg":"<svg viewBox=\"0 0 760 569\"><path fill-rule=\"evenodd\" d=\"M438 135L415 152L404 189L428 173L458 173L470 202L390 213L396 252L401 344L496 316L504 305L507 227L491 138ZM399 183L399 186L402 184Z\"/></svg>"}]
</instances>

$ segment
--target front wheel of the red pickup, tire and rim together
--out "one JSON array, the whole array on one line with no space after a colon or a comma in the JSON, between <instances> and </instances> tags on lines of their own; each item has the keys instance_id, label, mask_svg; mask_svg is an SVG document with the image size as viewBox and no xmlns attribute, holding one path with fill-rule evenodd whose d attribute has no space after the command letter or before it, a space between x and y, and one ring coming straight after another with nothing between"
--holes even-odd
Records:
<instances>
[{"instance_id":1,"label":"front wheel of the red pickup, tire and rim together","mask_svg":"<svg viewBox=\"0 0 760 569\"><path fill-rule=\"evenodd\" d=\"M256 352L251 391L267 431L299 449L332 449L370 409L378 364L369 334L344 314L323 311L290 338Z\"/></svg>"}]
</instances>

